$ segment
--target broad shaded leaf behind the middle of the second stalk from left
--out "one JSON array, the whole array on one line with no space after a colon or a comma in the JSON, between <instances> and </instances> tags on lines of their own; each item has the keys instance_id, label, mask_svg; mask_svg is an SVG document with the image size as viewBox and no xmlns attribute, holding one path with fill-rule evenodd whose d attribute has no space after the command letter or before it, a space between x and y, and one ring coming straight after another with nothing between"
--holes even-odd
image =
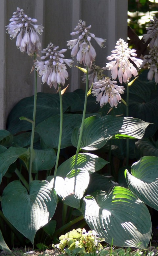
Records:
<instances>
[{"instance_id":1,"label":"broad shaded leaf behind the middle of the second stalk from left","mask_svg":"<svg viewBox=\"0 0 158 256\"><path fill-rule=\"evenodd\" d=\"M80 125L82 114L63 114L61 148L72 146L71 134L75 126ZM60 115L52 116L41 122L35 129L40 135L41 145L45 148L58 148Z\"/></svg>"}]
</instances>

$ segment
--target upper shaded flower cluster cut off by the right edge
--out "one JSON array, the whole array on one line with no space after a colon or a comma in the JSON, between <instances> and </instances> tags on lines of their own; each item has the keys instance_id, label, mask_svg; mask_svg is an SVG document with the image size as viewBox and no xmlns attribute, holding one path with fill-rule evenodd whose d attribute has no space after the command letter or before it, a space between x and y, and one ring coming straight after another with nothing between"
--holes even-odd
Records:
<instances>
[{"instance_id":1,"label":"upper shaded flower cluster cut off by the right edge","mask_svg":"<svg viewBox=\"0 0 158 256\"><path fill-rule=\"evenodd\" d=\"M153 46L158 48L158 19L153 16L153 19L150 19L149 27L146 28L147 33L142 35L143 40L146 41L151 38L152 40L149 43L149 47L152 48Z\"/></svg>"}]
</instances>

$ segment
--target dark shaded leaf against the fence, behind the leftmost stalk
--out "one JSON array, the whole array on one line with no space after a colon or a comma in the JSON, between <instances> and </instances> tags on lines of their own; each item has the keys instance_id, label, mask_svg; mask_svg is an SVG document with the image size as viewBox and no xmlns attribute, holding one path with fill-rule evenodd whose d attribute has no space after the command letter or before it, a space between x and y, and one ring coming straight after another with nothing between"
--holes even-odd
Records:
<instances>
[{"instance_id":1,"label":"dark shaded leaf against the fence, behind the leftmost stalk","mask_svg":"<svg viewBox=\"0 0 158 256\"><path fill-rule=\"evenodd\" d=\"M59 96L59 95L58 95ZM60 113L60 103L56 94L37 94L36 124L52 116L53 113ZM20 131L31 130L32 124L19 117L25 116L32 120L34 109L34 96L20 100L8 116L7 127L12 134Z\"/></svg>"}]
</instances>

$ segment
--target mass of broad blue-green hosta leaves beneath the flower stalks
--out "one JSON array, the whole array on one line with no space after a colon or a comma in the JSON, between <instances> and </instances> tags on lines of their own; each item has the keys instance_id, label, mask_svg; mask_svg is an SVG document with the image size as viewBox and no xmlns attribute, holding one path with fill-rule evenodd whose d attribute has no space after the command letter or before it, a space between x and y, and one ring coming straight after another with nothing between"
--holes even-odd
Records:
<instances>
[{"instance_id":1,"label":"mass of broad blue-green hosta leaves beneath the flower stalks","mask_svg":"<svg viewBox=\"0 0 158 256\"><path fill-rule=\"evenodd\" d=\"M151 101L153 93L155 100ZM31 143L30 122L26 120L19 122L18 117L26 115L27 118L31 118L31 105L29 108L26 106L32 104L32 100L31 97L28 97L15 105L8 118L9 131L2 130L1 132L1 180L5 176L8 179L12 178L14 172L20 179L13 180L4 188L1 199L4 219L6 218L32 243L36 240L36 243L41 241L39 244L45 244L45 239L50 243L50 239L56 240L61 232L84 218L90 228L94 229L108 243L111 243L113 239L114 245L145 248L151 235L150 215L145 204L148 204L148 201L152 202L152 197L155 198L157 195L157 190L154 190L157 186L157 183L154 183L157 174L156 172L154 174L152 169L150 171L146 169L148 167L145 167L146 175L149 173L152 179L150 179L151 184L147 189L149 194L146 192L146 196L143 197L144 192L140 193L139 186L137 189L134 188L137 182L132 181L133 178L136 178L133 166L132 175L128 172L126 174L131 191L123 188L128 185L123 177L125 167L121 165L121 161L126 157L127 138L130 145L130 159L136 157L139 159L144 155L144 142L147 143L146 152L149 152L150 155L156 154L154 145L157 144L153 144L153 140L149 139L156 131L156 128L153 127L158 125L154 114L154 104L157 104L154 84L137 79L130 86L129 110L131 117L115 116L115 111L105 114L106 108L100 111L98 105L95 104L95 99L89 96L81 138L81 152L77 158L73 151L72 154L67 155L66 150L68 147L74 150L78 144L83 110L81 106L84 100L83 92L76 90L73 93L64 94L61 163L57 168L56 177L53 176L53 173L60 129L60 114L57 111L59 97L58 95L39 93L38 104L40 103L40 107L37 108L32 154L32 182L29 186L27 173ZM147 111L148 105L145 105L144 102L149 102L151 112ZM134 107L135 104L138 104L137 111ZM44 109L47 110L47 108L50 109L44 114L46 112ZM40 114L42 112L43 114ZM117 115L122 113L122 108L118 108ZM136 150L134 150L135 145ZM114 165L113 159L119 159L119 166ZM106 167L107 164L108 167ZM151 167L152 164L153 160L150 159L147 166ZM143 164L139 167L139 171L142 172L142 170L144 170ZM42 176L43 181L39 180L39 176ZM145 187L145 180L141 179L141 184ZM152 190L152 194L150 190ZM61 211L58 209L58 202L63 205L60 221L53 219L55 211ZM150 204L150 206L157 207L155 204ZM77 218L73 215L74 208L78 210ZM57 230L56 224L58 225ZM121 237L116 235L119 232L122 234ZM39 237L42 240L39 240ZM138 246L139 242L141 245Z\"/></svg>"}]
</instances>

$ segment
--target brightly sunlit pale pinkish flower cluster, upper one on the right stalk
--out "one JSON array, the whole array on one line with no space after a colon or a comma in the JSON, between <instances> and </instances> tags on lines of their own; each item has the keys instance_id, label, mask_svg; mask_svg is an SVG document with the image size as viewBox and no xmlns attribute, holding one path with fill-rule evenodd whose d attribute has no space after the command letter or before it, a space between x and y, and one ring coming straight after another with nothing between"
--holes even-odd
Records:
<instances>
[{"instance_id":1,"label":"brightly sunlit pale pinkish flower cluster, upper one on the right stalk","mask_svg":"<svg viewBox=\"0 0 158 256\"><path fill-rule=\"evenodd\" d=\"M119 82L128 82L132 75L137 76L137 69L129 61L133 61L135 65L140 68L143 60L136 58L136 50L128 48L128 43L124 42L122 39L117 41L115 50L112 51L112 54L107 57L108 60L115 60L106 63L106 68L111 70L112 79L119 78ZM119 70L118 70L119 69Z\"/></svg>"}]
</instances>

